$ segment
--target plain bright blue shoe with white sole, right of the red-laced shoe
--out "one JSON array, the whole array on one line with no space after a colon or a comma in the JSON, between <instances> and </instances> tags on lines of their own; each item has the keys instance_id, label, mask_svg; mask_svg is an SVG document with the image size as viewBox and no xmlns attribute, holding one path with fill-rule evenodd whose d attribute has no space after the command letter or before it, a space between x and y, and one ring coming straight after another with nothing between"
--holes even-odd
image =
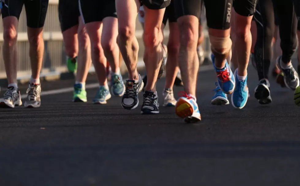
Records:
<instances>
[{"instance_id":1,"label":"plain bright blue shoe with white sole, right of the red-laced shoe","mask_svg":"<svg viewBox=\"0 0 300 186\"><path fill-rule=\"evenodd\" d=\"M249 96L249 89L247 86L247 77L245 80L240 81L237 78L237 70L234 71L235 76L235 89L231 95L231 103L237 109L242 109L247 103L248 96Z\"/></svg>"}]
</instances>

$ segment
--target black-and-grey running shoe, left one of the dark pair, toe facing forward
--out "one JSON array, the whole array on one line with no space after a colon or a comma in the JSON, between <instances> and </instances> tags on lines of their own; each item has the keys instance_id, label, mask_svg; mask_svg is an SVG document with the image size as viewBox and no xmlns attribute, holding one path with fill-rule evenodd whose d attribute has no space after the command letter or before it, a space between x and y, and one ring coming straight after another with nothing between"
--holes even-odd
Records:
<instances>
[{"instance_id":1,"label":"black-and-grey running shoe, left one of the dark pair, toe facing forward","mask_svg":"<svg viewBox=\"0 0 300 186\"><path fill-rule=\"evenodd\" d=\"M125 93L122 97L122 107L127 110L135 109L139 105L138 93L142 91L144 82L139 74L139 80L127 80Z\"/></svg>"}]
</instances>

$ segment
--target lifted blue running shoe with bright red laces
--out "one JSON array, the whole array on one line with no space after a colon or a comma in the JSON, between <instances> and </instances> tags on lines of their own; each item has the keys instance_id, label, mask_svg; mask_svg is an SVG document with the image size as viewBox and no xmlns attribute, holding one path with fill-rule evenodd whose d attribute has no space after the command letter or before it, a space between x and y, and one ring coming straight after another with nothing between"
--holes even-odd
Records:
<instances>
[{"instance_id":1,"label":"lifted blue running shoe with bright red laces","mask_svg":"<svg viewBox=\"0 0 300 186\"><path fill-rule=\"evenodd\" d=\"M211 61L214 65L215 71L218 77L218 85L225 94L231 94L234 91L235 79L227 61L223 69L217 69L215 67L215 56L211 54Z\"/></svg>"}]
</instances>

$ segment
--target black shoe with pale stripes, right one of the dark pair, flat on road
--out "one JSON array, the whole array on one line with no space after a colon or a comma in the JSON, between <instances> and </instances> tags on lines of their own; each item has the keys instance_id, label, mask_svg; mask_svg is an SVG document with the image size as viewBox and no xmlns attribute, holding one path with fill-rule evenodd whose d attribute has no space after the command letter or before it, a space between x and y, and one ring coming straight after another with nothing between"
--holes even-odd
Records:
<instances>
[{"instance_id":1,"label":"black shoe with pale stripes, right one of the dark pair, flat on road","mask_svg":"<svg viewBox=\"0 0 300 186\"><path fill-rule=\"evenodd\" d=\"M157 92L145 91L141 114L158 114L159 103Z\"/></svg>"}]
</instances>

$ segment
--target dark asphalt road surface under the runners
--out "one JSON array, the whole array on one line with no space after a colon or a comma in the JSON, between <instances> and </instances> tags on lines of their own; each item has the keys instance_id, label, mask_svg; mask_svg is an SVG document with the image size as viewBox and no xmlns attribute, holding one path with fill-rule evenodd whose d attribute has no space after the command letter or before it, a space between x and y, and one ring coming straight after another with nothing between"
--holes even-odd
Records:
<instances>
[{"instance_id":1,"label":"dark asphalt road surface under the runners","mask_svg":"<svg viewBox=\"0 0 300 186\"><path fill-rule=\"evenodd\" d=\"M87 103L71 102L67 92L42 96L40 109L1 109L0 185L298 186L300 107L293 91L271 80L273 102L259 105L249 66L251 97L237 110L210 104L214 81L213 71L199 73L203 120L194 125L177 118L174 108L141 115L140 106L124 110L121 98L92 105L96 88L88 89ZM42 87L72 85L64 80ZM159 95L163 86L162 79ZM174 89L175 95L182 90Z\"/></svg>"}]
</instances>

